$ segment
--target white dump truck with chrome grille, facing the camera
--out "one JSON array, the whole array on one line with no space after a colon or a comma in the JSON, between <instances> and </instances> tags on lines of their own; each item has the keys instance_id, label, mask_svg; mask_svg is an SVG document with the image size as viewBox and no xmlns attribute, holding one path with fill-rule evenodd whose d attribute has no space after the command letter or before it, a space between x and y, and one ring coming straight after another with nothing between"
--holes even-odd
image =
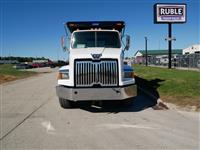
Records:
<instances>
[{"instance_id":1,"label":"white dump truck with chrome grille, facing the camera","mask_svg":"<svg viewBox=\"0 0 200 150\"><path fill-rule=\"evenodd\" d=\"M124 64L130 36L124 34L123 21L67 22L64 26L68 38L62 37L61 43L69 65L58 73L56 93L61 107L73 107L77 101L123 101L137 95L133 69Z\"/></svg>"}]
</instances>

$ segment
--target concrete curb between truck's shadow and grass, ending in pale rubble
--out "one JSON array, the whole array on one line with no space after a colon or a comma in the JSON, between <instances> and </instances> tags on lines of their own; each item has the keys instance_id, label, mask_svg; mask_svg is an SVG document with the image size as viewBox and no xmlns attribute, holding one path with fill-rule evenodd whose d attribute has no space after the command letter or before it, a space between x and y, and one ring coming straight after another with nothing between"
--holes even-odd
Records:
<instances>
[{"instance_id":1,"label":"concrete curb between truck's shadow and grass, ending in pale rubble","mask_svg":"<svg viewBox=\"0 0 200 150\"><path fill-rule=\"evenodd\" d=\"M140 91L142 91L145 95L150 97L151 99L157 99L157 104L152 107L153 109L155 109L155 110L167 110L167 109L169 109L167 104L165 104L160 98L157 98L156 96L154 96L153 94L151 94L150 92L148 92L147 90L145 90L145 89L143 89L139 86L138 86L138 89Z\"/></svg>"}]
</instances>

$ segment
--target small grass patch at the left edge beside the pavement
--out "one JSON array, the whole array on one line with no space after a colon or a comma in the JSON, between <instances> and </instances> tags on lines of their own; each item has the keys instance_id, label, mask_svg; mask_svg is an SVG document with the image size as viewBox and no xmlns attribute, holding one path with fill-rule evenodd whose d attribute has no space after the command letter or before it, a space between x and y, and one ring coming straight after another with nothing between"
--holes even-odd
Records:
<instances>
[{"instance_id":1,"label":"small grass patch at the left edge beside the pavement","mask_svg":"<svg viewBox=\"0 0 200 150\"><path fill-rule=\"evenodd\" d=\"M36 72L17 70L13 65L0 65L0 84L16 79L26 78L37 74Z\"/></svg>"}]
</instances>

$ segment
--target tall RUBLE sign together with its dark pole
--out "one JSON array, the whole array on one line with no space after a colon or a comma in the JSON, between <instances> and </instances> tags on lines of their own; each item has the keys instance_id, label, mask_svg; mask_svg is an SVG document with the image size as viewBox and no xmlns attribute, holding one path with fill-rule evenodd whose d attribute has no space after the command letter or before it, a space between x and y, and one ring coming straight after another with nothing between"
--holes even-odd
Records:
<instances>
[{"instance_id":1,"label":"tall RUBLE sign together with its dark pole","mask_svg":"<svg viewBox=\"0 0 200 150\"><path fill-rule=\"evenodd\" d=\"M168 68L171 68L172 58L172 24L186 22L186 4L163 4L154 5L154 23L168 24Z\"/></svg>"}]
</instances>

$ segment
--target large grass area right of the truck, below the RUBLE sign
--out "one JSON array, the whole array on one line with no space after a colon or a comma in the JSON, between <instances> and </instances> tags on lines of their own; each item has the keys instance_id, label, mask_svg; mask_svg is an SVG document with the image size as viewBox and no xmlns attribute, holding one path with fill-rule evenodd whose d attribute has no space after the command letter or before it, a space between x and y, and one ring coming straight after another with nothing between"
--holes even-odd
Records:
<instances>
[{"instance_id":1,"label":"large grass area right of the truck, below the RUBLE sign","mask_svg":"<svg viewBox=\"0 0 200 150\"><path fill-rule=\"evenodd\" d=\"M164 101L200 109L200 72L135 65L135 73L147 81L159 79L157 91Z\"/></svg>"}]
</instances>

